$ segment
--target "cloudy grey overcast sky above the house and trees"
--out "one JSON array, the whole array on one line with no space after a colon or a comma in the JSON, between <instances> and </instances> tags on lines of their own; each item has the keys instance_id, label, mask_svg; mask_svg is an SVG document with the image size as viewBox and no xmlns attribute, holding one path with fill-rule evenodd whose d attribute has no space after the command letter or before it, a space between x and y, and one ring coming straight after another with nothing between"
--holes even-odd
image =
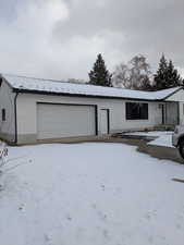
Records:
<instances>
[{"instance_id":1,"label":"cloudy grey overcast sky above the house and trees","mask_svg":"<svg viewBox=\"0 0 184 245\"><path fill-rule=\"evenodd\" d=\"M113 72L164 52L184 75L183 23L184 0L3 0L0 72L87 79L98 53Z\"/></svg>"}]
</instances>

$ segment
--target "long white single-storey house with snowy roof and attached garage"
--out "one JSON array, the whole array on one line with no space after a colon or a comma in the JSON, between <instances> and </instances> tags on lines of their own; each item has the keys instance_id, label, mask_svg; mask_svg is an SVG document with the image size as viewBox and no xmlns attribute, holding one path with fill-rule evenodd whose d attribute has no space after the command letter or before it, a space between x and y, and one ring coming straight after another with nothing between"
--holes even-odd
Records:
<instances>
[{"instance_id":1,"label":"long white single-storey house with snowy roof and attached garage","mask_svg":"<svg viewBox=\"0 0 184 245\"><path fill-rule=\"evenodd\" d=\"M0 136L14 144L175 125L182 87L136 91L1 74Z\"/></svg>"}]
</instances>

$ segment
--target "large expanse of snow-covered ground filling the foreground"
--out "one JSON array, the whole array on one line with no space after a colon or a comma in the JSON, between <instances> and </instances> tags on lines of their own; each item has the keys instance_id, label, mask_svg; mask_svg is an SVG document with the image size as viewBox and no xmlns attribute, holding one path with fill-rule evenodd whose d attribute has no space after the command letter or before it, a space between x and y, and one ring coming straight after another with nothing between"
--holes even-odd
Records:
<instances>
[{"instance_id":1,"label":"large expanse of snow-covered ground filling the foreground","mask_svg":"<svg viewBox=\"0 0 184 245\"><path fill-rule=\"evenodd\" d=\"M2 245L183 245L184 167L122 144L10 147Z\"/></svg>"}]
</instances>

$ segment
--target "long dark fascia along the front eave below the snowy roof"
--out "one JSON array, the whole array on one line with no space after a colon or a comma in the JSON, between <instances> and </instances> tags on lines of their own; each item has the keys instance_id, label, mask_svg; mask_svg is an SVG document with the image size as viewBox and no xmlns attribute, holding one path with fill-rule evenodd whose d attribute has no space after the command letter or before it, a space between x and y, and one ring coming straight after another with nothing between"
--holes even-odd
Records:
<instances>
[{"instance_id":1,"label":"long dark fascia along the front eave below the snowy roof","mask_svg":"<svg viewBox=\"0 0 184 245\"><path fill-rule=\"evenodd\" d=\"M53 93L44 90L29 90L22 88L13 88L14 93L22 94L36 94L36 95L50 95L50 96L68 96L68 97L85 97L85 98L106 98L106 99L122 99L122 100L135 100L135 101L163 101L163 99L140 99L140 98L126 98L126 97L115 97L115 96L93 96L83 94L70 94L70 93Z\"/></svg>"}]
</instances>

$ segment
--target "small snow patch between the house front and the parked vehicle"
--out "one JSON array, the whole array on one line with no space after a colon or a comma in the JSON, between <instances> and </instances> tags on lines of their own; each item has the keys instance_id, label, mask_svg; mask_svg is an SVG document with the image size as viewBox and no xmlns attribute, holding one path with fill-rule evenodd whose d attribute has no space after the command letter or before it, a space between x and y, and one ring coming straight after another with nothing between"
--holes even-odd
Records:
<instances>
[{"instance_id":1,"label":"small snow patch between the house front and the parked vehicle","mask_svg":"<svg viewBox=\"0 0 184 245\"><path fill-rule=\"evenodd\" d=\"M135 136L154 136L158 137L148 145L156 145L156 146L165 146L165 147L173 147L172 146L172 131L150 131L150 132L133 132L126 133L125 135L135 135Z\"/></svg>"}]
</instances>

